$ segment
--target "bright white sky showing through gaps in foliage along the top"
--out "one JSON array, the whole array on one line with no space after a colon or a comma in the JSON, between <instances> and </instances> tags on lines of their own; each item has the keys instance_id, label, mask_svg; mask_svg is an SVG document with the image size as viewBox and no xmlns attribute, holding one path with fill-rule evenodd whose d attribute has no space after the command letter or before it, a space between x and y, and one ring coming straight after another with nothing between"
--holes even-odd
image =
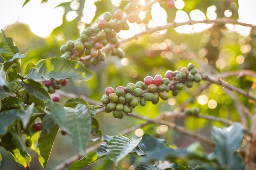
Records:
<instances>
[{"instance_id":1,"label":"bright white sky showing through gaps in foliage along the top","mask_svg":"<svg viewBox=\"0 0 256 170\"><path fill-rule=\"evenodd\" d=\"M70 0L48 0L47 3L41 4L41 0L31 0L25 7L22 8L22 4L25 0L0 0L0 29L4 29L5 26L12 24L13 22L23 22L28 24L35 34L45 37L49 35L55 27L59 26L62 23L62 15L63 9L61 7L56 7L61 2L68 2ZM112 0L112 2L118 2L119 0ZM141 0L143 2L144 0ZM184 1L186 2L186 1ZM184 2L182 0L176 0L175 6L180 9L177 11L176 22L184 22L189 20L189 16L182 11L184 6ZM256 24L256 0L238 0L239 2L239 18L240 22L246 22L249 24ZM73 4L73 8L76 8L76 4ZM86 0L85 16L87 18L83 18L83 22L89 22L92 18L88 18L88 16L93 17L93 13L96 7L93 4L93 0ZM211 7L208 9L209 14L207 16L210 19L214 19L214 11L215 7ZM154 12L157 11L157 12ZM227 11L227 16L229 12ZM164 25L166 24L166 13L158 4L154 4L152 8L153 21L150 22L150 26ZM157 15L161 15L158 17ZM204 20L204 14L199 10L194 10L189 13L190 17L195 20ZM74 18L74 13L69 13L67 16L67 20L72 20ZM144 17L144 13L141 13L141 18ZM159 20L162 18L162 20ZM139 28L135 24L130 25L131 30L129 30L130 34L126 36L131 36L132 34L138 33ZM232 26L231 26L232 27ZM203 26L184 26L183 28L177 28L176 31L180 33L187 33L187 30L193 29L194 32L202 31ZM234 28L233 28L234 29ZM236 26L236 31L243 35L247 35L249 33L249 29L245 29L242 26ZM126 38L126 37L124 37Z\"/></svg>"}]
</instances>

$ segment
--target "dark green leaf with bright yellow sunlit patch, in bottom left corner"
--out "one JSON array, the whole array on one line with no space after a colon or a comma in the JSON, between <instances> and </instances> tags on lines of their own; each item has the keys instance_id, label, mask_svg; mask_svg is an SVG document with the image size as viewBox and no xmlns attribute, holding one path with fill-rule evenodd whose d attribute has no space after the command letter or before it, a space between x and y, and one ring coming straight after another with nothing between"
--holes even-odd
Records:
<instances>
[{"instance_id":1,"label":"dark green leaf with bright yellow sunlit patch, in bottom left corner","mask_svg":"<svg viewBox=\"0 0 256 170\"><path fill-rule=\"evenodd\" d=\"M10 132L4 135L1 141L2 146L11 153L16 162L20 163L25 168L29 168L31 157L27 153L22 138L18 135L15 128L12 128Z\"/></svg>"}]
</instances>

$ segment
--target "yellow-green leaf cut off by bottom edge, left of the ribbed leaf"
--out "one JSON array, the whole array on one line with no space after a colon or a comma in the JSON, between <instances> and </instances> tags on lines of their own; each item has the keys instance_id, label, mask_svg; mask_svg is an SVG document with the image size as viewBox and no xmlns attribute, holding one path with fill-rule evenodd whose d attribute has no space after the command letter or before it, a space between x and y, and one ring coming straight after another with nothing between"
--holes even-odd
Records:
<instances>
[{"instance_id":1,"label":"yellow-green leaf cut off by bottom edge, left of the ribbed leaf","mask_svg":"<svg viewBox=\"0 0 256 170\"><path fill-rule=\"evenodd\" d=\"M75 161L70 168L67 170L80 170L81 168L90 165L91 163L94 163L98 161L98 155L96 152L88 153L86 157L83 159L80 159L78 161Z\"/></svg>"}]
</instances>

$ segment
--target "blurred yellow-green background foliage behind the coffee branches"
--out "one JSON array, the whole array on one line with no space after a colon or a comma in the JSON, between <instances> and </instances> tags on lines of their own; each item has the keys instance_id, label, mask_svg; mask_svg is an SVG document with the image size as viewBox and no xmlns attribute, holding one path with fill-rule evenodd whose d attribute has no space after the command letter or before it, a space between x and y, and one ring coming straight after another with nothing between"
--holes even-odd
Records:
<instances>
[{"instance_id":1,"label":"blurred yellow-green background foliage behind the coffee branches","mask_svg":"<svg viewBox=\"0 0 256 170\"><path fill-rule=\"evenodd\" d=\"M67 40L79 38L81 28L84 29L86 26L93 25L106 11L113 15L115 10L124 9L124 6L128 3L126 0L121 1L119 4L112 4L111 0L98 0L94 2L97 10L91 24L85 24L81 22L85 0L76 1L76 3L79 3L79 7L75 10L78 14L77 17L72 21L66 20L65 15L73 10L70 7L73 1L75 0L58 5L58 7L65 9L63 23L46 38L34 35L28 25L18 22L4 29L6 35L14 39L21 53L26 53L27 55L22 59L23 69L29 62L36 64L40 59L61 56L59 47L65 44ZM229 18L239 18L237 0L184 0L184 3L182 10L186 13L199 9L206 15L209 7L216 7L217 17L226 17L225 11L229 10L232 13ZM177 9L167 7L164 2L160 5L166 11L167 22L172 22L175 19ZM146 29L147 24L152 20L150 9L145 12L143 23L140 24L141 30ZM143 81L147 75L153 77L156 74L164 75L166 70L179 70L189 62L193 62L200 71L210 75L239 69L256 71L255 38L255 30L252 30L249 36L244 37L228 29L225 24L214 24L209 29L198 33L182 34L172 28L161 33L146 34L136 40L121 44L120 48L124 50L125 58L119 59L117 56L107 55L106 61L98 66L87 64L86 67L93 72L93 79L82 83L69 81L62 90L77 95L85 95L100 101L107 86L116 88L117 86L126 86L128 82ZM233 76L227 78L227 82L255 95L255 78ZM250 100L240 95L237 96L241 103L245 104L250 110L253 109ZM61 103L64 104L66 100L67 98L62 97ZM232 99L225 92L225 87L216 84L207 85L206 82L194 84L193 88L190 89L185 88L176 97L171 97L168 101L160 101L157 105L148 102L144 107L137 106L134 112L155 118L165 111L182 111L184 108L180 108L180 105L186 101L188 102L185 107L198 106L202 114L240 121ZM112 114L107 113L100 113L96 116L96 119L99 121L100 130L106 135L118 135L120 131L144 122L128 116L123 119L115 119ZM184 125L189 130L202 132L207 136L210 136L209 132L213 125L224 126L217 121L209 122L206 119L195 117L177 119L175 123ZM142 130L144 133L165 139L168 144L175 147L186 147L195 141L195 139L181 135L166 126L150 124L143 127ZM134 132L129 135L136 138ZM202 146L207 152L212 150L207 145L202 144ZM3 148L0 148L0 152L4 158L0 170L23 169L18 163L13 163L13 158ZM30 153L32 158L33 155L36 155L32 150ZM71 140L59 133L46 169L53 169L54 166L76 153L77 151L72 147ZM130 155L129 157L130 159L127 159L127 161L133 160L132 157L134 156ZM121 163L123 165L126 164L125 161ZM42 169L39 167L38 161L32 159L31 169ZM112 163L107 158L104 158L99 163L83 169L112 169Z\"/></svg>"}]
</instances>

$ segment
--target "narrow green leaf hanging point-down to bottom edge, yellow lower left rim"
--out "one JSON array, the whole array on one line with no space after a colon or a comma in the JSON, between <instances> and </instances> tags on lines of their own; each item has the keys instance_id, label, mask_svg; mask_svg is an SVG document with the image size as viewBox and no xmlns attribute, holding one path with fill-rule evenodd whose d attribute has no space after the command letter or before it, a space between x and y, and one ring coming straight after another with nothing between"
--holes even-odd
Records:
<instances>
[{"instance_id":1,"label":"narrow green leaf hanging point-down to bottom edge, yellow lower left rim","mask_svg":"<svg viewBox=\"0 0 256 170\"><path fill-rule=\"evenodd\" d=\"M52 131L49 133L47 133L46 130L43 130L38 139L38 159L44 170L48 162L49 156L52 152L52 146L54 144L58 128L58 126L54 126L54 128L52 128Z\"/></svg>"}]
</instances>

